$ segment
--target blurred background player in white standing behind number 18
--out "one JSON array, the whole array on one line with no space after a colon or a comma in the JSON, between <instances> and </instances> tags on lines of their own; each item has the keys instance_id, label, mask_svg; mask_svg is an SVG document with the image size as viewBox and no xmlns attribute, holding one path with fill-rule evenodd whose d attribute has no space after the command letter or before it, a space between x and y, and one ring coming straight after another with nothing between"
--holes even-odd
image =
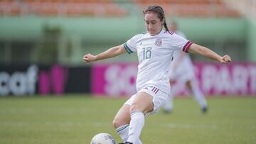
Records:
<instances>
[{"instance_id":1,"label":"blurred background player in white standing behind number 18","mask_svg":"<svg viewBox=\"0 0 256 144\"><path fill-rule=\"evenodd\" d=\"M178 26L175 21L172 21L170 24L170 30L177 35L180 35L183 38L186 36L178 31ZM193 64L191 62L191 57L186 52L182 52L181 50L176 50L174 52L174 60L171 62L171 70L169 72L170 84L174 84L174 82L178 81L182 84L186 84L186 87L193 93L194 98L198 102L201 107L201 111L203 113L207 112L208 106L206 102L206 98L203 95L203 92L198 87L198 83L196 82L196 76L193 72ZM164 105L164 111L169 113L173 110L173 99L174 99L174 90L171 87L171 94L169 99L166 101Z\"/></svg>"}]
</instances>

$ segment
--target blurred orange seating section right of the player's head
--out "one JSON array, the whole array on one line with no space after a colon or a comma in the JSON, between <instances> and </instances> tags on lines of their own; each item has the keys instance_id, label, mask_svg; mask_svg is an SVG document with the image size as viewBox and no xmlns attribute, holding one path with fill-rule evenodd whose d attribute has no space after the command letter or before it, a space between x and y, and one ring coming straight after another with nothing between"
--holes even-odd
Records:
<instances>
[{"instance_id":1,"label":"blurred orange seating section right of the player's head","mask_svg":"<svg viewBox=\"0 0 256 144\"><path fill-rule=\"evenodd\" d=\"M196 17L239 17L239 11L228 7L223 0L138 0L142 9L158 4L165 9L166 15Z\"/></svg>"}]
</instances>

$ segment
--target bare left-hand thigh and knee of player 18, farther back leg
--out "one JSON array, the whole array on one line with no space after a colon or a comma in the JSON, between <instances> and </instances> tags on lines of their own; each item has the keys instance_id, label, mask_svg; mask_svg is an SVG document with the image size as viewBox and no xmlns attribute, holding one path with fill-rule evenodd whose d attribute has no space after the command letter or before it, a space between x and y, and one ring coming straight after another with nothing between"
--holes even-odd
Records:
<instances>
[{"instance_id":1,"label":"bare left-hand thigh and knee of player 18, farther back leg","mask_svg":"<svg viewBox=\"0 0 256 144\"><path fill-rule=\"evenodd\" d=\"M131 106L129 104L124 104L119 111L117 112L116 116L114 116L113 125L115 128L119 126L123 126L125 124L129 124L131 121L129 109Z\"/></svg>"}]
</instances>

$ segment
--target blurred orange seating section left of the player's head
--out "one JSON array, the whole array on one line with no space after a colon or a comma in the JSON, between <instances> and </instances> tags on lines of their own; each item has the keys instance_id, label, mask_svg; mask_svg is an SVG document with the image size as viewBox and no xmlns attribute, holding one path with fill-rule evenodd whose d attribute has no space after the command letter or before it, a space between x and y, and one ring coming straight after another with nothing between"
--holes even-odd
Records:
<instances>
[{"instance_id":1,"label":"blurred orange seating section left of the player's head","mask_svg":"<svg viewBox=\"0 0 256 144\"><path fill-rule=\"evenodd\" d=\"M1 15L124 16L127 11L112 0L1 0Z\"/></svg>"}]
</instances>

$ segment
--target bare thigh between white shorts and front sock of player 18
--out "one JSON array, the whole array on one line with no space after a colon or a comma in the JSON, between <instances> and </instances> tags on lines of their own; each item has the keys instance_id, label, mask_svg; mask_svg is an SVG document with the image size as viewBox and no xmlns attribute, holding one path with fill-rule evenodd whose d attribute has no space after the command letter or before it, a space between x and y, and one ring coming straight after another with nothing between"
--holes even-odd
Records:
<instances>
[{"instance_id":1,"label":"bare thigh between white shorts and front sock of player 18","mask_svg":"<svg viewBox=\"0 0 256 144\"><path fill-rule=\"evenodd\" d=\"M132 107L130 113L134 111L142 111L144 114L153 111L153 96L146 92L138 92L134 101L132 102Z\"/></svg>"}]
</instances>

